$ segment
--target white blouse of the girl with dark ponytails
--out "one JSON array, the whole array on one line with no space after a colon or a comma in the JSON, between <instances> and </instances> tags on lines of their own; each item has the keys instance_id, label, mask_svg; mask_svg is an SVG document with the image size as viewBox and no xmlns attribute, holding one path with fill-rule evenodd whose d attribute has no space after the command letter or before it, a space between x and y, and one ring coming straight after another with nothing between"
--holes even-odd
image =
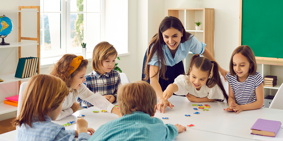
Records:
<instances>
[{"instance_id":1,"label":"white blouse of the girl with dark ponytails","mask_svg":"<svg viewBox=\"0 0 283 141\"><path fill-rule=\"evenodd\" d=\"M200 90L197 91L190 82L190 76L187 75L179 75L175 78L173 84L178 86L178 91L174 92L176 95L186 95L189 93L199 98L207 97L208 99L224 99L223 93L217 84L212 88L208 88L208 86L203 85Z\"/></svg>"}]
</instances>

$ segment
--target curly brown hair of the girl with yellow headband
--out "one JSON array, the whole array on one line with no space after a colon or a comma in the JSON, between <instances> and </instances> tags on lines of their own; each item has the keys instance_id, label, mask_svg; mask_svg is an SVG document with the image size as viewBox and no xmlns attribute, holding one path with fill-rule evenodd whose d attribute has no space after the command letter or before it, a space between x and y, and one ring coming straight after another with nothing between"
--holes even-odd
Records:
<instances>
[{"instance_id":1,"label":"curly brown hair of the girl with yellow headband","mask_svg":"<svg viewBox=\"0 0 283 141\"><path fill-rule=\"evenodd\" d=\"M62 58L60 60L57 61L56 64L54 64L53 69L51 70L51 75L53 76L57 76L59 78L61 78L67 85L68 88L70 88L73 78L74 76L80 72L83 68L87 67L88 64L88 60L84 59L81 60L81 63L79 65L79 67L70 75L69 73L69 68L74 69L73 66L70 66L72 60L74 58L78 57L77 55L74 54L65 54L62 56ZM76 90L71 90L75 91L74 94L77 94Z\"/></svg>"}]
</instances>

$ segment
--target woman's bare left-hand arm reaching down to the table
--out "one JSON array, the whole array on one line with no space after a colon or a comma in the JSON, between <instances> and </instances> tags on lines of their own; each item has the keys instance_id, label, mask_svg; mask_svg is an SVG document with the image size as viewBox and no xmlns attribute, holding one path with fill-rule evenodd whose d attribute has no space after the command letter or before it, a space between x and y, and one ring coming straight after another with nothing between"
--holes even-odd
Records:
<instances>
[{"instance_id":1,"label":"woman's bare left-hand arm reaching down to the table","mask_svg":"<svg viewBox=\"0 0 283 141\"><path fill-rule=\"evenodd\" d=\"M159 110L159 112L161 112L161 107L163 107L164 105L169 106L171 109L173 108L172 104L165 100L163 98L163 91L162 88L158 82L159 80L159 67L155 66L155 65L150 65L149 66L149 79L150 79L150 85L153 87L153 89L155 90L156 96L159 100L158 104L157 104L157 109ZM154 76L157 73L156 76ZM165 108L166 106L163 107L163 113L165 112Z\"/></svg>"}]
</instances>

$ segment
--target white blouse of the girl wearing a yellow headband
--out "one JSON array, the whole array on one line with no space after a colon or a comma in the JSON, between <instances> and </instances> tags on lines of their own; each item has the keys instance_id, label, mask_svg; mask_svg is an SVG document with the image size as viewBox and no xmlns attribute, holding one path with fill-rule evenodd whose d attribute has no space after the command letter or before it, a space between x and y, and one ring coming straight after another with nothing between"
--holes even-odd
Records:
<instances>
[{"instance_id":1,"label":"white blouse of the girl wearing a yellow headband","mask_svg":"<svg viewBox=\"0 0 283 141\"><path fill-rule=\"evenodd\" d=\"M69 91L70 90L72 90L72 88L69 88ZM111 112L112 108L114 107L114 105L110 103L106 98L104 98L99 93L93 93L84 84L81 84L80 89L77 90L77 96L74 96L73 92L69 92L69 95L65 98L65 101L62 103L62 111L60 112L56 120L65 118L74 113L71 109L71 106L76 101L77 97L80 97L82 100L86 100L87 102L102 110L107 110L107 112Z\"/></svg>"}]
</instances>

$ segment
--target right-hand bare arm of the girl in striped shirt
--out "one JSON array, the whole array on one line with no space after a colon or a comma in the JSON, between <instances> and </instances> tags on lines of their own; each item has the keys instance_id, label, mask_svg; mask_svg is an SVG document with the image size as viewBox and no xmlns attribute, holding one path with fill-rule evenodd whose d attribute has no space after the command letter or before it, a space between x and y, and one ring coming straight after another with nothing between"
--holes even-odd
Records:
<instances>
[{"instance_id":1,"label":"right-hand bare arm of the girl in striped shirt","mask_svg":"<svg viewBox=\"0 0 283 141\"><path fill-rule=\"evenodd\" d=\"M236 113L239 113L241 111L254 110L254 109L261 108L264 105L264 85L263 85L263 82L255 89L255 93L256 93L256 96L257 96L257 101L249 103L249 104L244 104L244 105L232 104L233 110Z\"/></svg>"}]
</instances>

